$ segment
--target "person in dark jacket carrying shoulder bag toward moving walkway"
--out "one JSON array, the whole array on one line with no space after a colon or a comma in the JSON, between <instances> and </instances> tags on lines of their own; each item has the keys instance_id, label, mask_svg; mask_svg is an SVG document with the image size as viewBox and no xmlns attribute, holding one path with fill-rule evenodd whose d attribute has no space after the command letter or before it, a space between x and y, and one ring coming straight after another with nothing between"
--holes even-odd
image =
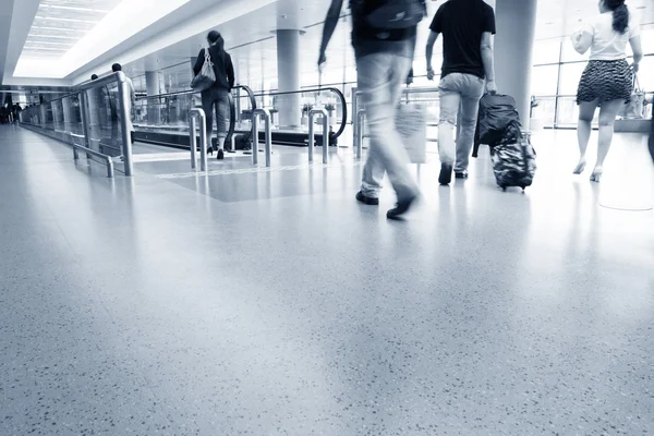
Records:
<instances>
[{"instance_id":1,"label":"person in dark jacket carrying shoulder bag toward moving walkway","mask_svg":"<svg viewBox=\"0 0 654 436\"><path fill-rule=\"evenodd\" d=\"M216 110L216 128L218 133L217 148L218 159L225 158L225 140L227 138L227 118L229 117L229 93L234 87L234 65L231 57L225 51L225 39L216 32L211 31L207 35L209 43L209 57L214 63L214 73L216 82L208 89L202 92L202 107L207 117L207 138L211 142L214 132L214 109ZM205 49L199 50L197 61L193 66L195 75L199 73L205 62ZM209 144L209 153L214 152Z\"/></svg>"}]
</instances>

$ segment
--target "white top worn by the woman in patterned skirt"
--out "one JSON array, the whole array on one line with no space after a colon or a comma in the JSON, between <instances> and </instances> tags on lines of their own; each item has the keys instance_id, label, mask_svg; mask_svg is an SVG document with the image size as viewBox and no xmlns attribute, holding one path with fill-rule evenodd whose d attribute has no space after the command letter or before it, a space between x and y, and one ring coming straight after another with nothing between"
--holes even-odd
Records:
<instances>
[{"instance_id":1,"label":"white top worn by the woman in patterned skirt","mask_svg":"<svg viewBox=\"0 0 654 436\"><path fill-rule=\"evenodd\" d=\"M613 12L606 12L589 20L572 34L572 45L580 55L590 48L591 60L616 61L627 58L627 44L637 36L640 36L640 24L632 13L627 32L620 35L613 28Z\"/></svg>"}]
</instances>

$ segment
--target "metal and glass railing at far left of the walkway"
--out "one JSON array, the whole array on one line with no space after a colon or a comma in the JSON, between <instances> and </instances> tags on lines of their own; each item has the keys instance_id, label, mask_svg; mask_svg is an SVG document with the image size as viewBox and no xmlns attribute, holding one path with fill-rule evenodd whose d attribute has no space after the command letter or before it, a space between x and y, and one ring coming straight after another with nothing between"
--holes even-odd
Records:
<instances>
[{"instance_id":1,"label":"metal and glass railing at far left of the walkway","mask_svg":"<svg viewBox=\"0 0 654 436\"><path fill-rule=\"evenodd\" d=\"M122 72L111 73L95 81L84 82L74 87L74 90L62 97L55 98L41 105L32 106L21 112L21 123L31 126L35 132L53 137L69 145L74 145L75 138L83 138L82 146L87 155L106 161L107 155L94 150L89 132L88 92L107 88L109 85L118 86L118 107L116 110L116 122L120 120L122 126L122 158L124 174L132 175L132 141L130 125L130 92L126 77ZM111 97L109 97L111 98ZM75 105L76 104L76 105ZM77 110L80 118L77 119ZM112 122L114 120L112 119ZM52 124L49 126L48 124ZM57 124L63 124L70 129L57 129ZM81 124L80 133L73 132L73 126ZM73 136L75 135L75 136ZM80 146L76 146L80 148ZM93 153L92 153L93 152Z\"/></svg>"}]
</instances>

